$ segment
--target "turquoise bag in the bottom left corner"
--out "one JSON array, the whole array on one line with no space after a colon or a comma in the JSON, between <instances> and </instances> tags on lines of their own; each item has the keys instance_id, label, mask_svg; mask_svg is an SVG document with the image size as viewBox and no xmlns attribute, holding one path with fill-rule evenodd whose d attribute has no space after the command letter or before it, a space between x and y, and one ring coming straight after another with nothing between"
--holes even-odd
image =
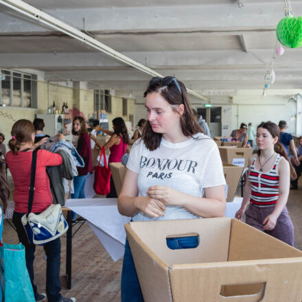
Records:
<instances>
[{"instance_id":1,"label":"turquoise bag in the bottom left corner","mask_svg":"<svg viewBox=\"0 0 302 302\"><path fill-rule=\"evenodd\" d=\"M23 244L3 243L3 246L0 246L0 279L2 296L4 296L1 301L36 301L25 264Z\"/></svg>"}]
</instances>

